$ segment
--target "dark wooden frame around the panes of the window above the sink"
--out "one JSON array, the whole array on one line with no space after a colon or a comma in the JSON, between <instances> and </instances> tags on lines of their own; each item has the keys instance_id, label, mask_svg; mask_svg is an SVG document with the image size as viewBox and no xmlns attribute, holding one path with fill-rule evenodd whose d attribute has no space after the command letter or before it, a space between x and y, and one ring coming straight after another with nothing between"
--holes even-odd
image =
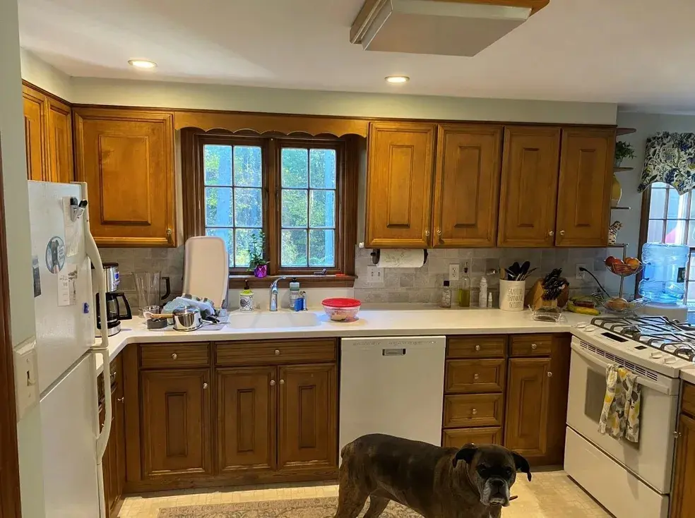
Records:
<instances>
[{"instance_id":1,"label":"dark wooden frame around the panes of the window above the sink","mask_svg":"<svg viewBox=\"0 0 695 518\"><path fill-rule=\"evenodd\" d=\"M263 232L266 234L266 257L270 260L268 277L256 279L245 268L230 268L230 288L242 287L248 280L251 287L268 286L280 276L297 277L302 284L314 287L352 287L355 281L355 245L357 241L357 176L359 144L355 135L343 138L287 137L285 135L231 134L220 131L181 131L182 192L184 208L184 239L205 235L205 186L203 146L261 146L261 178L263 192ZM281 183L280 153L283 147L335 149L337 171L335 188L335 267L326 268L326 275L316 275L323 267L281 267Z\"/></svg>"}]
</instances>

